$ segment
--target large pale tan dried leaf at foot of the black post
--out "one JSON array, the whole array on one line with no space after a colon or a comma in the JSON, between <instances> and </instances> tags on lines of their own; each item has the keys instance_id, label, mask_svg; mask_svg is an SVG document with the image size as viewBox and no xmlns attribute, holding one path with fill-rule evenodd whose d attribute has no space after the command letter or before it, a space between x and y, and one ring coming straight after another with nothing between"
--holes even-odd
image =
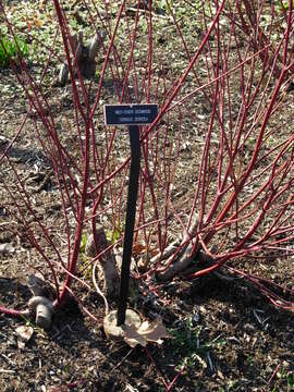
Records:
<instances>
[{"instance_id":1,"label":"large pale tan dried leaf at foot of the black post","mask_svg":"<svg viewBox=\"0 0 294 392\"><path fill-rule=\"evenodd\" d=\"M137 344L146 346L148 342L161 344L162 338L169 338L161 318L155 321L144 321L139 328L134 326L122 326L124 331L124 341L131 346L135 347Z\"/></svg>"}]
</instances>

